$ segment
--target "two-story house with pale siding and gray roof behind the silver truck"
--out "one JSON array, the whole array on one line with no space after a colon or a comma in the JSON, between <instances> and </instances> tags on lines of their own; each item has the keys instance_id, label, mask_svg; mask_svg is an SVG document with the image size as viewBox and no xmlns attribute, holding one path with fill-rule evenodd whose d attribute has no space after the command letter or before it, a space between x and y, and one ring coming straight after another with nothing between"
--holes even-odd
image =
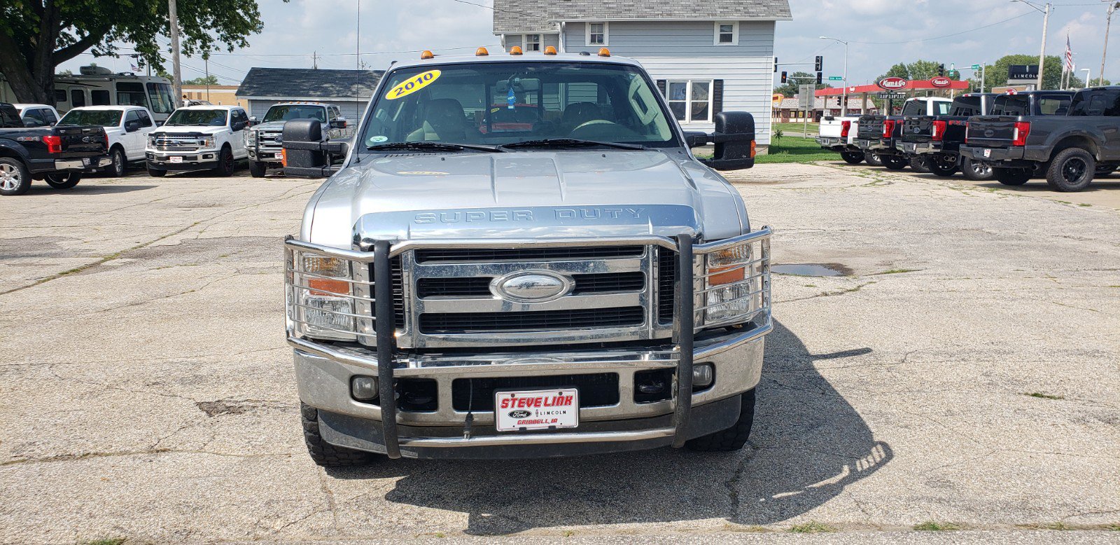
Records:
<instances>
[{"instance_id":1,"label":"two-story house with pale siding and gray roof behind the silver truck","mask_svg":"<svg viewBox=\"0 0 1120 545\"><path fill-rule=\"evenodd\" d=\"M792 18L788 0L494 0L506 50L607 47L645 66L685 130L711 131L715 113L747 111L760 146L771 141L774 27Z\"/></svg>"}]
</instances>

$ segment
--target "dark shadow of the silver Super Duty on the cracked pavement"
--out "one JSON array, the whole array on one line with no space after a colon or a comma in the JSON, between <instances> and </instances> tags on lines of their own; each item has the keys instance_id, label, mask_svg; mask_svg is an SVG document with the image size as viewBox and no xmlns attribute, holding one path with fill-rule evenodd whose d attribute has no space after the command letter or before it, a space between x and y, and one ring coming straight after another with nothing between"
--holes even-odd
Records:
<instances>
[{"instance_id":1,"label":"dark shadow of the silver Super Duty on the cracked pavement","mask_svg":"<svg viewBox=\"0 0 1120 545\"><path fill-rule=\"evenodd\" d=\"M871 350L812 354L793 332L775 325L766 341L755 427L739 452L659 449L552 460L399 460L328 474L400 478L385 499L466 512L469 535L719 517L741 525L787 520L836 498L893 454L813 366ZM376 502L347 508L382 516Z\"/></svg>"}]
</instances>

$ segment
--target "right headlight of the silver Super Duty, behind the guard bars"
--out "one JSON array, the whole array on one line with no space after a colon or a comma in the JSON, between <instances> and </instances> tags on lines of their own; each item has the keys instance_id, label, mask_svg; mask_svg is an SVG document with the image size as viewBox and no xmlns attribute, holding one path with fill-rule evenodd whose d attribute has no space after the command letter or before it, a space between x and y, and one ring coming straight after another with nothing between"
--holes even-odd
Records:
<instances>
[{"instance_id":1,"label":"right headlight of the silver Super Duty, behind the guard bars","mask_svg":"<svg viewBox=\"0 0 1120 545\"><path fill-rule=\"evenodd\" d=\"M753 256L750 243L706 256L704 325L745 322L762 308L760 264Z\"/></svg>"}]
</instances>

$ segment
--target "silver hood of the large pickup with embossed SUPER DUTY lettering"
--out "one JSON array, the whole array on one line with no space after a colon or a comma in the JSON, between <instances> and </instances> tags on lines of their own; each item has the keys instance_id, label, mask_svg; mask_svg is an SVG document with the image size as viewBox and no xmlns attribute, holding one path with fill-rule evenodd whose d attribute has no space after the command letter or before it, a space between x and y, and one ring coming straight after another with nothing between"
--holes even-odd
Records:
<instances>
[{"instance_id":1,"label":"silver hood of the large pickup with embossed SUPER DUTY lettering","mask_svg":"<svg viewBox=\"0 0 1120 545\"><path fill-rule=\"evenodd\" d=\"M679 150L562 150L366 157L319 188L301 238L351 248L355 239L712 240L746 230L738 192Z\"/></svg>"}]
</instances>

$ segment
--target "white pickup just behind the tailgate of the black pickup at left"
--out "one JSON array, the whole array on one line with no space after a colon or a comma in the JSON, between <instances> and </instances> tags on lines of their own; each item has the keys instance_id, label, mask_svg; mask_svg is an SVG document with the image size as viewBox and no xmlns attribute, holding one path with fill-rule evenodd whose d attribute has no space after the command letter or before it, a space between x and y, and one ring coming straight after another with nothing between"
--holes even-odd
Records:
<instances>
[{"instance_id":1,"label":"white pickup just behind the tailgate of the black pickup at left","mask_svg":"<svg viewBox=\"0 0 1120 545\"><path fill-rule=\"evenodd\" d=\"M124 176L129 163L144 159L148 135L156 130L151 112L144 107L133 105L74 108L63 116L58 124L100 124L105 129L110 158L105 172L115 177Z\"/></svg>"}]
</instances>

